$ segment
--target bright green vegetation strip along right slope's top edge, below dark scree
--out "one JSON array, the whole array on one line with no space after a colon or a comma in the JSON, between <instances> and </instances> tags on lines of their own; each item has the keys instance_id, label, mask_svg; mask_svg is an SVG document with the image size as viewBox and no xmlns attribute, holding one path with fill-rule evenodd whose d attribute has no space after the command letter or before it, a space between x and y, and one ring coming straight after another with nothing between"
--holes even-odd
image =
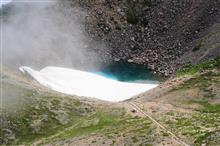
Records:
<instances>
[{"instance_id":1,"label":"bright green vegetation strip along right slope's top edge, below dark scree","mask_svg":"<svg viewBox=\"0 0 220 146\"><path fill-rule=\"evenodd\" d=\"M188 63L184 65L181 69L177 70L176 75L177 76L186 75L186 74L192 75L213 68L220 68L220 57L216 57L215 59L210 61L203 61L195 65Z\"/></svg>"}]
</instances>

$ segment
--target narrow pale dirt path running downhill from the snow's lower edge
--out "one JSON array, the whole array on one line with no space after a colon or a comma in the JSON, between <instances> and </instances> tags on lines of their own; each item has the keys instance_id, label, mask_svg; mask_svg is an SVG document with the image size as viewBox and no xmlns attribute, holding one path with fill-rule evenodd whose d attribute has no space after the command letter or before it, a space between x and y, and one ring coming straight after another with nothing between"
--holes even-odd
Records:
<instances>
[{"instance_id":1,"label":"narrow pale dirt path running downhill from the snow's lower edge","mask_svg":"<svg viewBox=\"0 0 220 146\"><path fill-rule=\"evenodd\" d=\"M128 104L130 104L132 107L134 107L137 111L139 111L140 113L142 113L143 115L145 115L146 117L148 117L152 122L154 122L157 126L159 126L160 128L162 128L166 133L168 133L169 135L172 136L172 138L179 143L180 145L183 146L189 146L188 144L186 144L184 141L182 141L180 138L178 138L174 133L172 133L171 131L167 130L163 125L161 125L159 122L157 122L154 118L152 118L149 114L147 114L146 112L144 112L139 106L137 106L135 103L129 102Z\"/></svg>"}]
</instances>

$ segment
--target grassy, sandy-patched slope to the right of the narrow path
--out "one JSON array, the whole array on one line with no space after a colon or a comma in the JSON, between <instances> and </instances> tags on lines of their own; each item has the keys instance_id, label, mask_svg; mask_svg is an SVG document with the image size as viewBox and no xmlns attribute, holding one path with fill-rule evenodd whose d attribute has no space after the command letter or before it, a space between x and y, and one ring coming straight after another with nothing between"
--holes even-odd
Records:
<instances>
[{"instance_id":1,"label":"grassy, sandy-patched slope to the right of the narrow path","mask_svg":"<svg viewBox=\"0 0 220 146\"><path fill-rule=\"evenodd\" d=\"M181 78L185 79L178 83ZM186 65L168 85L166 92L161 88L141 99L146 105L155 103L152 116L188 144L220 145L219 57ZM146 99L149 95L152 98Z\"/></svg>"}]
</instances>

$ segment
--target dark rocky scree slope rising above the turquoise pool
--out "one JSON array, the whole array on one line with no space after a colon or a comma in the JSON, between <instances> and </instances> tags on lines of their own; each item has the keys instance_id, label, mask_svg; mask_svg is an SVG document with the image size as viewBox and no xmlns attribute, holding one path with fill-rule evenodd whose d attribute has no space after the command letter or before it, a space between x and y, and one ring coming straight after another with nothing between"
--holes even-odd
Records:
<instances>
[{"instance_id":1,"label":"dark rocky scree slope rising above the turquoise pool","mask_svg":"<svg viewBox=\"0 0 220 146\"><path fill-rule=\"evenodd\" d=\"M219 54L219 0L81 0L79 4L88 12L89 35L108 46L98 50L104 61L144 64L169 76L188 61L197 63ZM209 41L211 46L204 45Z\"/></svg>"}]
</instances>

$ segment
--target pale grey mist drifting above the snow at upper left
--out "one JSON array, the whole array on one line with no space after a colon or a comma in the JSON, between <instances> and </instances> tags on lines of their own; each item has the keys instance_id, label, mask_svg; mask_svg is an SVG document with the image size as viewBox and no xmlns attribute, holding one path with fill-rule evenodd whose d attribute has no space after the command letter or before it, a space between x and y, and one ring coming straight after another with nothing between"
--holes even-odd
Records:
<instances>
[{"instance_id":1,"label":"pale grey mist drifting above the snow at upper left","mask_svg":"<svg viewBox=\"0 0 220 146\"><path fill-rule=\"evenodd\" d=\"M98 56L83 28L85 13L66 0L3 5L3 64L97 68ZM96 46L97 47L97 46ZM103 47L98 45L98 47Z\"/></svg>"}]
</instances>

